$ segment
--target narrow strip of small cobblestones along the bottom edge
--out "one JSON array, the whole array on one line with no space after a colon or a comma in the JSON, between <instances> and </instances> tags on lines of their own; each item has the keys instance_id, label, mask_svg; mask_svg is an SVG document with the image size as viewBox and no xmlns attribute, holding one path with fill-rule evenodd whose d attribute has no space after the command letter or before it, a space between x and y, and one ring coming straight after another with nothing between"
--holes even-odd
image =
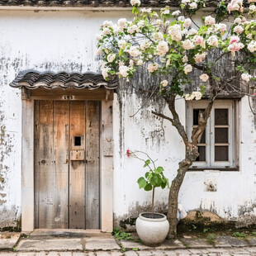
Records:
<instances>
[{"instance_id":1,"label":"narrow strip of small cobblestones along the bottom edge","mask_svg":"<svg viewBox=\"0 0 256 256\"><path fill-rule=\"evenodd\" d=\"M255 255L255 247L243 248L214 248L214 249L174 249L174 250L151 250L151 251L97 251L97 252L0 252L1 256L245 256Z\"/></svg>"}]
</instances>

